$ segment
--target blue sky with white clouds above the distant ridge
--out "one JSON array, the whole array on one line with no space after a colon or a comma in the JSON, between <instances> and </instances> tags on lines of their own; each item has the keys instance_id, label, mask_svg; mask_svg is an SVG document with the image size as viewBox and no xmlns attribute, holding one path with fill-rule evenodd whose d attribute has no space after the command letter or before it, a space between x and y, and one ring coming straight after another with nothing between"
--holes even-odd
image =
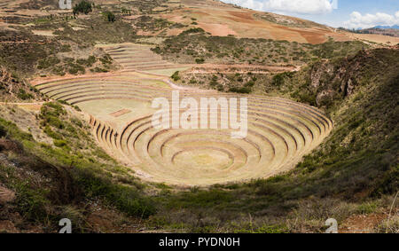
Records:
<instances>
[{"instance_id":1,"label":"blue sky with white clouds above the distant ridge","mask_svg":"<svg viewBox=\"0 0 399 251\"><path fill-rule=\"evenodd\" d=\"M399 0L221 0L263 12L275 12L331 27L399 25Z\"/></svg>"}]
</instances>

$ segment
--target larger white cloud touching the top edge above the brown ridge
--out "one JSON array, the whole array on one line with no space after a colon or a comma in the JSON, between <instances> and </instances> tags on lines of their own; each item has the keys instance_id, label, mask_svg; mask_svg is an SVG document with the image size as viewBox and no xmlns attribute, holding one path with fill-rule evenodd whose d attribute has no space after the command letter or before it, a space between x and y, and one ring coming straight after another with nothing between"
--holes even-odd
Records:
<instances>
[{"instance_id":1,"label":"larger white cloud touching the top edge above the brown ridge","mask_svg":"<svg viewBox=\"0 0 399 251\"><path fill-rule=\"evenodd\" d=\"M321 14L332 12L336 0L222 0L263 12Z\"/></svg>"}]
</instances>

